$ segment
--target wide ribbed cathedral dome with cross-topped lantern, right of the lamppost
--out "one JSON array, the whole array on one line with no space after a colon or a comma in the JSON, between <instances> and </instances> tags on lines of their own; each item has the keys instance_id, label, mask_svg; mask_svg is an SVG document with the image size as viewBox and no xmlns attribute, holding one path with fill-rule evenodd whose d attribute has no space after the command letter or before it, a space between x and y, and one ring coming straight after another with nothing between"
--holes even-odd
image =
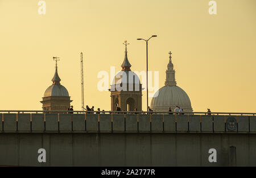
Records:
<instances>
[{"instance_id":1,"label":"wide ribbed cathedral dome with cross-topped lantern, right of the lamppost","mask_svg":"<svg viewBox=\"0 0 256 178\"><path fill-rule=\"evenodd\" d=\"M183 111L192 112L191 101L188 94L176 84L174 65L171 60L167 65L165 86L160 88L151 100L151 109L153 111L168 111L171 107L174 111L176 106L179 106Z\"/></svg>"}]
</instances>

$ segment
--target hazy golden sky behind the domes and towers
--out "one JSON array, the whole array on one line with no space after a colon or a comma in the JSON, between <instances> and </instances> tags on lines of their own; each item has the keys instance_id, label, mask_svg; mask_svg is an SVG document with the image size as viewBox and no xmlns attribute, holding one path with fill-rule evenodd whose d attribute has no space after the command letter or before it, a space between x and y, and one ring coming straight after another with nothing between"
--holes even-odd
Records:
<instances>
[{"instance_id":1,"label":"hazy golden sky behind the domes and towers","mask_svg":"<svg viewBox=\"0 0 256 178\"><path fill-rule=\"evenodd\" d=\"M110 92L97 74L121 70L127 40L133 71L159 71L164 86L168 52L177 86L194 111L256 112L256 1L216 0L0 0L0 110L42 110L59 56L61 84L81 109L80 52L84 53L85 105L110 110ZM151 101L151 98L149 99ZM146 110L146 92L143 92Z\"/></svg>"}]
</instances>

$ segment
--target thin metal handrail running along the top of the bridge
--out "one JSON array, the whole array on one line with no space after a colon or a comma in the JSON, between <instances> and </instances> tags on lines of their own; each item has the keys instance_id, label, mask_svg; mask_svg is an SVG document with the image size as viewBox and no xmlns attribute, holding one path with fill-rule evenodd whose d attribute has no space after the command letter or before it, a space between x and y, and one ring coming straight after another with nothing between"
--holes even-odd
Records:
<instances>
[{"instance_id":1,"label":"thin metal handrail running along the top of the bridge","mask_svg":"<svg viewBox=\"0 0 256 178\"><path fill-rule=\"evenodd\" d=\"M204 114L204 115L256 115L256 113L232 113L232 112L169 112L169 111L72 111L72 110L0 110L0 113L93 113L93 114L101 114L101 113L109 113L109 114Z\"/></svg>"}]
</instances>

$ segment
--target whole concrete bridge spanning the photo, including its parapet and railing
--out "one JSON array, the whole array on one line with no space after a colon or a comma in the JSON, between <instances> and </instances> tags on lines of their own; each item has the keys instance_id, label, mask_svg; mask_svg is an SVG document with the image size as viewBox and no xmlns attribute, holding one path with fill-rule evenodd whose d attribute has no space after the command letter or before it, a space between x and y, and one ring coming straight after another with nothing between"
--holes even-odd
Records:
<instances>
[{"instance_id":1,"label":"whole concrete bridge spanning the photo, including its parapet and railing","mask_svg":"<svg viewBox=\"0 0 256 178\"><path fill-rule=\"evenodd\" d=\"M67 112L0 111L0 165L256 165L256 113Z\"/></svg>"}]
</instances>

